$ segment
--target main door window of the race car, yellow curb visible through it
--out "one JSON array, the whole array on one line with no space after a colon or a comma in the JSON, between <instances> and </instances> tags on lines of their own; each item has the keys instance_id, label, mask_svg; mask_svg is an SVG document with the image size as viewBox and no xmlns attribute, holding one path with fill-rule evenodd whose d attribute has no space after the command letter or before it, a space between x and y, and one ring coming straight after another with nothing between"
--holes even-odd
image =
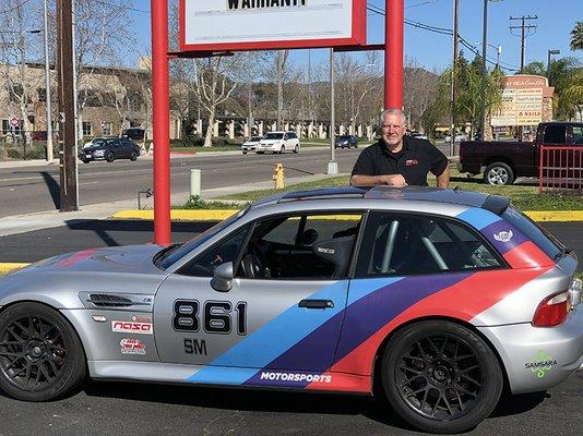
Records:
<instances>
[{"instance_id":1,"label":"main door window of the race car, yellow curb visible through it","mask_svg":"<svg viewBox=\"0 0 583 436\"><path fill-rule=\"evenodd\" d=\"M334 280L346 276L361 214L295 215L258 222L238 277Z\"/></svg>"}]
</instances>

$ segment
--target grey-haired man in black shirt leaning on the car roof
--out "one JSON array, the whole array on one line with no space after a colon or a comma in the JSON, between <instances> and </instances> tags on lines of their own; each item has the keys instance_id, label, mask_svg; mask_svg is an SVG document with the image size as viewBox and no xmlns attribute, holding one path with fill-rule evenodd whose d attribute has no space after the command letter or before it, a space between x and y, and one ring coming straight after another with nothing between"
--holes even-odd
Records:
<instances>
[{"instance_id":1,"label":"grey-haired man in black shirt leaning on the car roof","mask_svg":"<svg viewBox=\"0 0 583 436\"><path fill-rule=\"evenodd\" d=\"M405 113L386 109L381 114L382 137L362 150L350 177L353 186L428 186L427 173L438 187L450 184L448 158L427 140L405 136Z\"/></svg>"}]
</instances>

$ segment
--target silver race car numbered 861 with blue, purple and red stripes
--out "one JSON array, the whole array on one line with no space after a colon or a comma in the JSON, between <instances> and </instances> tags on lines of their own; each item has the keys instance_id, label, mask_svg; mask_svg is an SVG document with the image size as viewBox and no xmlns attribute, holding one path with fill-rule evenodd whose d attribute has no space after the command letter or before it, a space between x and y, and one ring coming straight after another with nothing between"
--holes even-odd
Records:
<instances>
[{"instance_id":1,"label":"silver race car numbered 861 with blue, purple and red stripes","mask_svg":"<svg viewBox=\"0 0 583 436\"><path fill-rule=\"evenodd\" d=\"M504 197L283 193L182 244L2 278L0 388L27 401L86 377L383 395L414 427L459 433L504 387L544 391L582 367L576 266Z\"/></svg>"}]
</instances>

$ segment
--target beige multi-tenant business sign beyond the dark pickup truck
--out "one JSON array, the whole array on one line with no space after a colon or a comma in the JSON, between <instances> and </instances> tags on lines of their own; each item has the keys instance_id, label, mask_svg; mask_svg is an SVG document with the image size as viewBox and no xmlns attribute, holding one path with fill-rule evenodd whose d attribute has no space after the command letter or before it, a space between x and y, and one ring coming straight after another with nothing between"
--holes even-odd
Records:
<instances>
[{"instance_id":1,"label":"beige multi-tenant business sign beyond the dark pickup truck","mask_svg":"<svg viewBox=\"0 0 583 436\"><path fill-rule=\"evenodd\" d=\"M552 97L555 88L546 77L510 75L502 90L502 106L491 117L491 125L536 125L543 122L543 99Z\"/></svg>"}]
</instances>

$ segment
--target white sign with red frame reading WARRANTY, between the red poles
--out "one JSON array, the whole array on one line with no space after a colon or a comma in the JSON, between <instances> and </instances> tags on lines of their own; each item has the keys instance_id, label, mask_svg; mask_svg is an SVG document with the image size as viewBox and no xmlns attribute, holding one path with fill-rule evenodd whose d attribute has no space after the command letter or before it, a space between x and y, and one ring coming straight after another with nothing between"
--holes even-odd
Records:
<instances>
[{"instance_id":1,"label":"white sign with red frame reading WARRANTY, between the red poles","mask_svg":"<svg viewBox=\"0 0 583 436\"><path fill-rule=\"evenodd\" d=\"M181 51L366 44L366 0L180 0Z\"/></svg>"}]
</instances>

